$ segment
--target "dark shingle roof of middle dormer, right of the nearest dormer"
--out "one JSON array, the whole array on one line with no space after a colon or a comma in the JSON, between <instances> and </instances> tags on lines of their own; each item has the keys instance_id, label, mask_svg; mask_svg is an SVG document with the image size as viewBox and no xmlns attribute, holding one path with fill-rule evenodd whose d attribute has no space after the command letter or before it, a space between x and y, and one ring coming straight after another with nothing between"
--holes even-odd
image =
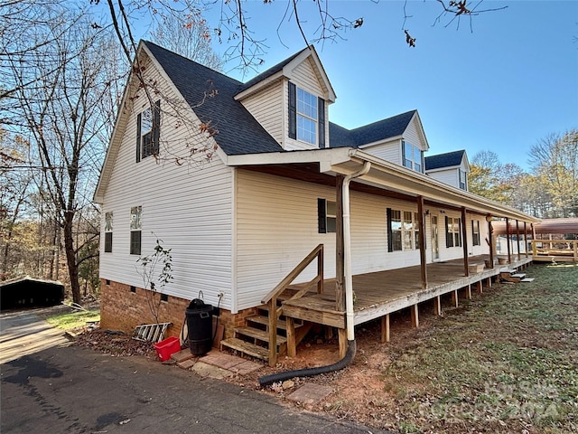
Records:
<instances>
[{"instance_id":1,"label":"dark shingle roof of middle dormer, right of the nearest dormer","mask_svg":"<svg viewBox=\"0 0 578 434\"><path fill-rule=\"evenodd\" d=\"M401 115L378 120L372 124L346 129L339 125L329 124L331 147L361 146L368 143L385 140L389 137L401 136L406 131L409 122L414 118L416 110L411 110Z\"/></svg>"}]
</instances>

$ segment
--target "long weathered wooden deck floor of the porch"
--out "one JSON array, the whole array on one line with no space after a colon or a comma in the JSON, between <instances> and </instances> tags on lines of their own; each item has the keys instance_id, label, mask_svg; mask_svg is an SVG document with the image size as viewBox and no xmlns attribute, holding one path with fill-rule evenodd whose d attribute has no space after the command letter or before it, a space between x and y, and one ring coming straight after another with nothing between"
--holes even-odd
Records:
<instances>
[{"instance_id":1,"label":"long weathered wooden deck floor of the porch","mask_svg":"<svg viewBox=\"0 0 578 434\"><path fill-rule=\"evenodd\" d=\"M470 257L470 264L483 264L489 255ZM471 294L474 286L481 290L484 282L491 285L491 278L499 275L503 269L517 269L532 261L532 257L512 256L510 264L495 265L493 269L483 269L479 273L471 273L465 277L463 259L447 260L427 264L428 288L422 288L420 267L390 269L368 274L353 276L353 290L356 301L354 304L354 324L359 325L406 307L414 307L417 314L417 304L436 298L437 309L440 309L439 297L453 293L457 304L457 291L466 288ZM323 294L307 293L304 297L283 302L285 316L311 321L313 323L345 328L345 313L335 310L335 279L323 281ZM291 288L302 288L292 285Z\"/></svg>"}]
</instances>

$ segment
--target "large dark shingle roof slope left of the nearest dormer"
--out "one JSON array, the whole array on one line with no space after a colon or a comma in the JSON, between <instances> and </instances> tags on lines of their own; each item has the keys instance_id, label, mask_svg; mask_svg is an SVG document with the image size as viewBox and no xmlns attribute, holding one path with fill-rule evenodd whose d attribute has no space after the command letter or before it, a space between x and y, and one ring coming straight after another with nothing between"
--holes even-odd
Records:
<instances>
[{"instance_id":1,"label":"large dark shingle roof slope left of the nearest dormer","mask_svg":"<svg viewBox=\"0 0 578 434\"><path fill-rule=\"evenodd\" d=\"M235 156L283 151L275 138L233 98L244 87L242 82L165 50L153 42L144 44L200 121L210 121L211 127L219 130L214 138L225 154ZM205 92L210 90L218 93L205 99ZM204 102L200 104L203 99Z\"/></svg>"}]
</instances>

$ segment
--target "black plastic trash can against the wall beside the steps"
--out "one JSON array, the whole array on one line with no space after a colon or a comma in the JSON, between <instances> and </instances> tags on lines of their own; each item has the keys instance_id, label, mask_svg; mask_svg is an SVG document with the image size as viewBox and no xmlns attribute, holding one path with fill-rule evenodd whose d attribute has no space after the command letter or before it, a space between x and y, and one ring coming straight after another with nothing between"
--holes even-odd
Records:
<instances>
[{"instance_id":1,"label":"black plastic trash can against the wall beside the steps","mask_svg":"<svg viewBox=\"0 0 578 434\"><path fill-rule=\"evenodd\" d=\"M195 298L185 310L189 348L191 354L202 355L210 352L213 344L213 307Z\"/></svg>"}]
</instances>

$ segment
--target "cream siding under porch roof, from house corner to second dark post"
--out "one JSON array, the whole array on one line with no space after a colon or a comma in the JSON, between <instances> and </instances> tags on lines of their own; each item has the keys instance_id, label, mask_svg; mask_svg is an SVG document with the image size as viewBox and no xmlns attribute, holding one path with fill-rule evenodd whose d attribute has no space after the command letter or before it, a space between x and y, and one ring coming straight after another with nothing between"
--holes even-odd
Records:
<instances>
[{"instance_id":1,"label":"cream siding under porch roof, from house corner to second dark post","mask_svg":"<svg viewBox=\"0 0 578 434\"><path fill-rule=\"evenodd\" d=\"M237 176L238 308L254 307L315 246L325 246L325 277L335 276L335 234L318 233L318 199L335 189L239 170ZM282 193L280 193L282 192ZM419 264L419 250L387 252L386 209L416 212L416 205L351 192L354 274ZM445 244L444 244L445 245ZM315 265L298 281L311 279Z\"/></svg>"}]
</instances>

